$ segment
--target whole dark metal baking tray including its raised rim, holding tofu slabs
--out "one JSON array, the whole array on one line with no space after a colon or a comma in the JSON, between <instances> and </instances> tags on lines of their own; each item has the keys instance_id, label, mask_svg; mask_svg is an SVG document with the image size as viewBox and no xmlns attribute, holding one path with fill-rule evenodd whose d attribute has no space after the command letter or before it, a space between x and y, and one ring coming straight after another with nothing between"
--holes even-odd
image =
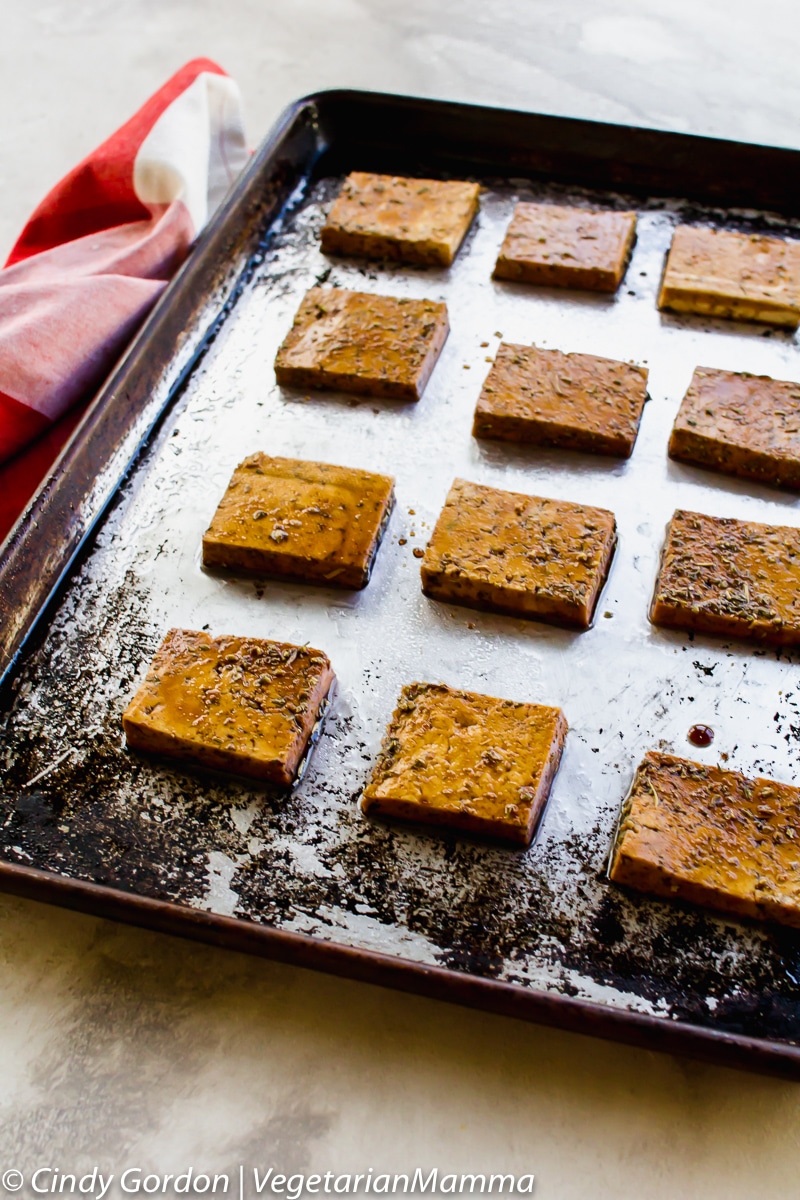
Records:
<instances>
[{"instance_id":1,"label":"whole dark metal baking tray including its raised rim, holding tofu slabs","mask_svg":"<svg viewBox=\"0 0 800 1200\"><path fill-rule=\"evenodd\" d=\"M485 184L451 271L323 258L324 210L355 168ZM777 148L365 92L290 108L4 547L0 887L800 1078L798 934L633 896L604 877L644 750L727 755L732 767L794 778L798 659L652 630L646 602L676 504L795 518L792 497L666 458L694 365L796 378L794 337L664 317L655 294L679 218L796 235L799 185L800 152ZM638 209L618 296L491 281L515 199L537 196ZM417 406L275 386L275 350L318 278L447 300L451 338ZM633 457L475 443L471 410L500 331L646 361L652 398ZM397 510L363 593L201 571L203 528L230 469L255 449L397 475ZM421 595L411 550L456 473L616 512L620 547L591 631ZM127 754L120 713L172 624L330 653L338 691L290 796ZM530 851L360 815L392 700L411 678L563 704L571 733ZM685 743L694 719L717 727L709 751Z\"/></svg>"}]
</instances>

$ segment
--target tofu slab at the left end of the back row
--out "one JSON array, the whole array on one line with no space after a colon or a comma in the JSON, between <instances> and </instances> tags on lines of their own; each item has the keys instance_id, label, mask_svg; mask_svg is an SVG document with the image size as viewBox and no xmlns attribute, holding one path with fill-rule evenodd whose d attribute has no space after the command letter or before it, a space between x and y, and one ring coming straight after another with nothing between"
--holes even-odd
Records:
<instances>
[{"instance_id":1,"label":"tofu slab at the left end of the back row","mask_svg":"<svg viewBox=\"0 0 800 1200\"><path fill-rule=\"evenodd\" d=\"M323 227L323 251L450 266L480 191L479 184L354 170Z\"/></svg>"}]
</instances>

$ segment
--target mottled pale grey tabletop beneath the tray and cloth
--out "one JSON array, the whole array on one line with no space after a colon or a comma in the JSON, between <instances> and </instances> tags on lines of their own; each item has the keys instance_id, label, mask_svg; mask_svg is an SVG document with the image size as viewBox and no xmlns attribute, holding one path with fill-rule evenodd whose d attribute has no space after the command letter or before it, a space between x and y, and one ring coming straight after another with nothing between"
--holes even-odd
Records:
<instances>
[{"instance_id":1,"label":"mottled pale grey tabletop beneath the tray and cloth","mask_svg":"<svg viewBox=\"0 0 800 1200\"><path fill-rule=\"evenodd\" d=\"M789 0L2 0L0 253L186 59L257 142L350 85L800 144ZM541 1200L796 1194L796 1085L0 898L0 1171L535 1171ZM1 1192L0 1192L1 1195Z\"/></svg>"}]
</instances>

